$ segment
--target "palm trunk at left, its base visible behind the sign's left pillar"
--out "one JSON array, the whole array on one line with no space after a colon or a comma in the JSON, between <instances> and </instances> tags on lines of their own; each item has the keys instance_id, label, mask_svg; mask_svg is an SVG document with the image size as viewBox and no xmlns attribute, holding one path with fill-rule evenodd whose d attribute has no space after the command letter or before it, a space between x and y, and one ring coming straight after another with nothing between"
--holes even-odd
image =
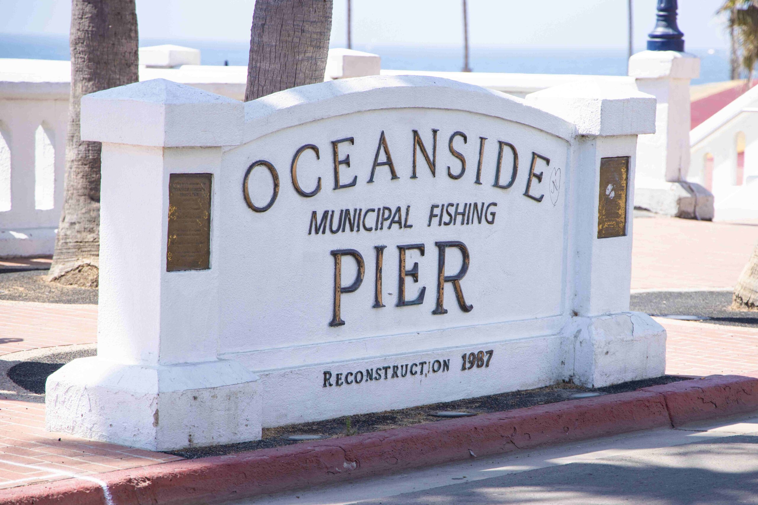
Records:
<instances>
[{"instance_id":1,"label":"palm trunk at left, its base visible behind the sign's left pillar","mask_svg":"<svg viewBox=\"0 0 758 505\"><path fill-rule=\"evenodd\" d=\"M64 202L48 279L96 287L100 248L100 142L83 142L80 100L102 89L136 83L135 0L73 0L71 95Z\"/></svg>"}]
</instances>

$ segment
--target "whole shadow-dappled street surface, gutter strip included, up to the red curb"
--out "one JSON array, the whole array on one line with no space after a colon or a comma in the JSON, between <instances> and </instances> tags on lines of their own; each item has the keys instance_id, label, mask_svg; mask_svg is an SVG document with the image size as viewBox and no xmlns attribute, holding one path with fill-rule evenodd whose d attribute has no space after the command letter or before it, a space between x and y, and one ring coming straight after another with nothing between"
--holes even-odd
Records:
<instances>
[{"instance_id":1,"label":"whole shadow-dappled street surface, gutter strip included, up to the red curb","mask_svg":"<svg viewBox=\"0 0 758 505\"><path fill-rule=\"evenodd\" d=\"M231 503L758 504L758 413Z\"/></svg>"}]
</instances>

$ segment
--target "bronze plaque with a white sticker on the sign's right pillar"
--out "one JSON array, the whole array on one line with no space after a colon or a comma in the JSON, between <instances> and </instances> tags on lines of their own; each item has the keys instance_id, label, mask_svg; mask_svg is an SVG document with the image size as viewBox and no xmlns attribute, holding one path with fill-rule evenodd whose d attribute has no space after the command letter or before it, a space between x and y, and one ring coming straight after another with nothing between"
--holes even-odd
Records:
<instances>
[{"instance_id":1,"label":"bronze plaque with a white sticker on the sign's right pillar","mask_svg":"<svg viewBox=\"0 0 758 505\"><path fill-rule=\"evenodd\" d=\"M597 238L626 235L626 188L629 157L600 160L600 198L597 204Z\"/></svg>"}]
</instances>

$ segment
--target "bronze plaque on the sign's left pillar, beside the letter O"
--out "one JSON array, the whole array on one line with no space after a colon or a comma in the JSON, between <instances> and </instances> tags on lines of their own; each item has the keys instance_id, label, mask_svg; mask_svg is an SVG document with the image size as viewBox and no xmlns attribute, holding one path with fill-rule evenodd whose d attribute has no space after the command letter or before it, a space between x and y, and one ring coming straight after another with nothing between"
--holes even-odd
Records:
<instances>
[{"instance_id":1,"label":"bronze plaque on the sign's left pillar, beside the letter O","mask_svg":"<svg viewBox=\"0 0 758 505\"><path fill-rule=\"evenodd\" d=\"M211 260L211 174L168 178L166 271L207 270Z\"/></svg>"}]
</instances>

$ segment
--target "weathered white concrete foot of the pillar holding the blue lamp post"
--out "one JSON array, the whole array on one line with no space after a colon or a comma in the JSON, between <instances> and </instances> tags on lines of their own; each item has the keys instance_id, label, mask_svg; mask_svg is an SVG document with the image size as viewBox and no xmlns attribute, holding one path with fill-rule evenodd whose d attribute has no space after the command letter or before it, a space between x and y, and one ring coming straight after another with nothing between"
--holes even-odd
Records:
<instances>
[{"instance_id":1,"label":"weathered white concrete foot of the pillar holding the blue lamp post","mask_svg":"<svg viewBox=\"0 0 758 505\"><path fill-rule=\"evenodd\" d=\"M634 188L634 207L685 219L713 220L713 194L695 182Z\"/></svg>"}]
</instances>

